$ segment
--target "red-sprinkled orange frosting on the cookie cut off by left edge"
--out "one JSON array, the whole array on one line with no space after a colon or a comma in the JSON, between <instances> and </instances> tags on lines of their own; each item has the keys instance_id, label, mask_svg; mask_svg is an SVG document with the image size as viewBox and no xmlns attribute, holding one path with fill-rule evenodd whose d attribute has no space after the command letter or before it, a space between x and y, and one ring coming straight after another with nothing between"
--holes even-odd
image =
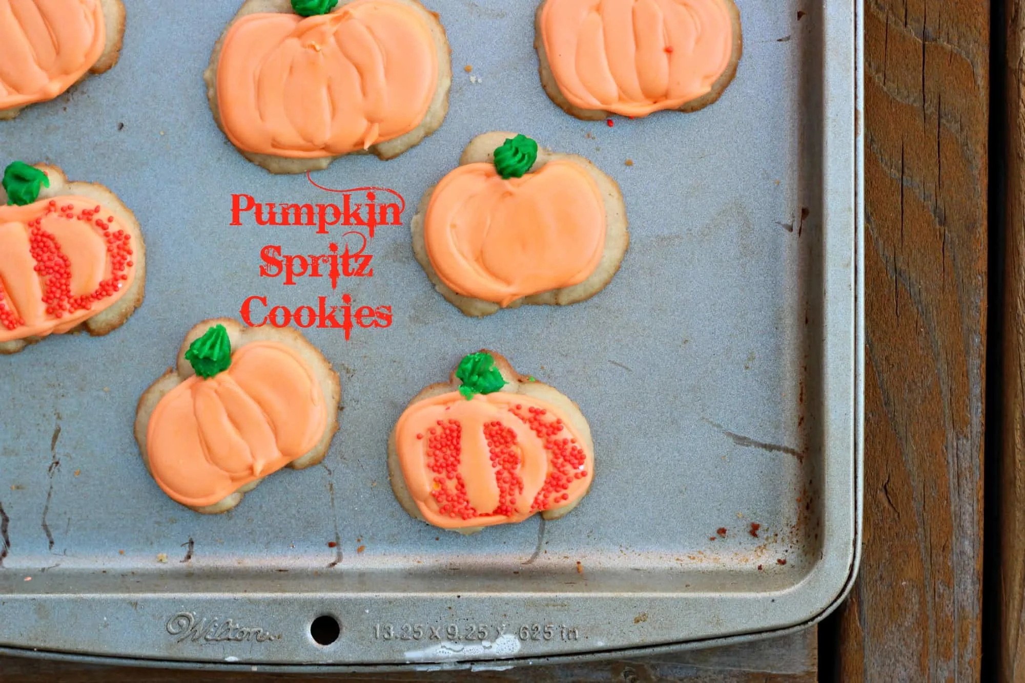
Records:
<instances>
[{"instance_id":1,"label":"red-sprinkled orange frosting on the cookie cut off by left edge","mask_svg":"<svg viewBox=\"0 0 1025 683\"><path fill-rule=\"evenodd\" d=\"M0 342L63 334L111 307L135 280L135 247L95 200L0 206Z\"/></svg>"}]
</instances>

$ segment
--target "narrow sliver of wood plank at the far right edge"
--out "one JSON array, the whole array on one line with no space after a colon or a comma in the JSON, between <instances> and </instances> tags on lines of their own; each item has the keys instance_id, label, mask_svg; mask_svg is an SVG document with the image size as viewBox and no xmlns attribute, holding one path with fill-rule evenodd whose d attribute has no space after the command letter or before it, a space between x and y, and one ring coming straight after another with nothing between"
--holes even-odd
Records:
<instances>
[{"instance_id":1,"label":"narrow sliver of wood plank at the far right edge","mask_svg":"<svg viewBox=\"0 0 1025 683\"><path fill-rule=\"evenodd\" d=\"M1007 52L999 62L1007 95L1000 566L993 601L1001 683L1025 680L1025 0L1011 0L1007 8Z\"/></svg>"}]
</instances>

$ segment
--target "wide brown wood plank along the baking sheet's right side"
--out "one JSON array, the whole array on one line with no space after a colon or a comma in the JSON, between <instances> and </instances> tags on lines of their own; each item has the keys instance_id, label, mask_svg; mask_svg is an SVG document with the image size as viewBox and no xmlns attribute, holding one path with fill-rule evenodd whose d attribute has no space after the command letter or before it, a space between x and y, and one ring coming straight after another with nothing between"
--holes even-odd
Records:
<instances>
[{"instance_id":1,"label":"wide brown wood plank along the baking sheet's right side","mask_svg":"<svg viewBox=\"0 0 1025 683\"><path fill-rule=\"evenodd\" d=\"M865 531L842 681L980 676L989 17L865 0Z\"/></svg>"}]
</instances>

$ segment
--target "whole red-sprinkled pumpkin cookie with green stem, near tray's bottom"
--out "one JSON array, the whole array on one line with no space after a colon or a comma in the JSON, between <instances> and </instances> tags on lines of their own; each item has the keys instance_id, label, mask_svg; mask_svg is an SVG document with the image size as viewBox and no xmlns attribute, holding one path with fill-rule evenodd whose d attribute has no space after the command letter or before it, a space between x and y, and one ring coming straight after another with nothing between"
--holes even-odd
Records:
<instances>
[{"instance_id":1,"label":"whole red-sprinkled pumpkin cookie with green stem, near tray's bottom","mask_svg":"<svg viewBox=\"0 0 1025 683\"><path fill-rule=\"evenodd\" d=\"M413 397L387 463L410 516L474 533L575 508L594 477L594 444L576 403L484 350Z\"/></svg>"}]
</instances>

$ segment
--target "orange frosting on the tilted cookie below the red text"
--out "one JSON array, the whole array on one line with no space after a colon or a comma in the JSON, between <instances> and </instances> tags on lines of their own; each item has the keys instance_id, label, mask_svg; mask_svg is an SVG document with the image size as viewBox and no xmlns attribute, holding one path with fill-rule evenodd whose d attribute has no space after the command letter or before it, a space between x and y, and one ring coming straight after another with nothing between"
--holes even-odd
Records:
<instances>
[{"instance_id":1,"label":"orange frosting on the tilted cookie below the red text","mask_svg":"<svg viewBox=\"0 0 1025 683\"><path fill-rule=\"evenodd\" d=\"M327 405L290 347L252 342L209 379L192 376L157 403L147 427L153 478L173 500L212 505L311 451Z\"/></svg>"}]
</instances>

